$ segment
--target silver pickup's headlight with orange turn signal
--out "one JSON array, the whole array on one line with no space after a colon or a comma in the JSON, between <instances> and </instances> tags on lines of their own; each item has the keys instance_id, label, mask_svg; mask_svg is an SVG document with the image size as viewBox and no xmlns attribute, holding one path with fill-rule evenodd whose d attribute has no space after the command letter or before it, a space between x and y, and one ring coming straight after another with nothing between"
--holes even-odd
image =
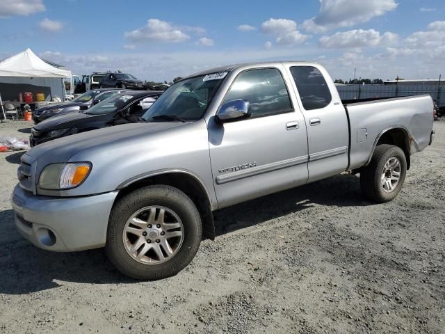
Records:
<instances>
[{"instance_id":1,"label":"silver pickup's headlight with orange turn signal","mask_svg":"<svg viewBox=\"0 0 445 334\"><path fill-rule=\"evenodd\" d=\"M42 189L71 189L79 186L90 173L90 162L51 164L43 168L39 178Z\"/></svg>"}]
</instances>

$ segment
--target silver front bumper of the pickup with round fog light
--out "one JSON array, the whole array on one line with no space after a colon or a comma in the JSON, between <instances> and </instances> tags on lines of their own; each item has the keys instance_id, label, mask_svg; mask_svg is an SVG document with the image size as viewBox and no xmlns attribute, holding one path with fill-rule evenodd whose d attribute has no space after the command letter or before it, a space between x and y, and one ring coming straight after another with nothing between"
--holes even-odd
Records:
<instances>
[{"instance_id":1,"label":"silver front bumper of the pickup with round fog light","mask_svg":"<svg viewBox=\"0 0 445 334\"><path fill-rule=\"evenodd\" d=\"M105 245L111 207L118 191L95 196L35 196L15 186L11 202L15 226L35 246L72 252Z\"/></svg>"}]
</instances>

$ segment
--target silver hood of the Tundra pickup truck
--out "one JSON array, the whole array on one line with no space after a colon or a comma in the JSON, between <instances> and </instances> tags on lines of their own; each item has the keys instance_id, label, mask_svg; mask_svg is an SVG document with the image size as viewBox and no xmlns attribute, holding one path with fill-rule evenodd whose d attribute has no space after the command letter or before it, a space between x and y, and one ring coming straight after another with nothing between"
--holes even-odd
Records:
<instances>
[{"instance_id":1,"label":"silver hood of the Tundra pickup truck","mask_svg":"<svg viewBox=\"0 0 445 334\"><path fill-rule=\"evenodd\" d=\"M81 114L85 116L85 114ZM88 116L88 115L87 115ZM130 123L118 125L115 127L105 127L80 134L73 134L63 138L55 139L47 143L31 148L27 155L38 159L38 169L43 168L47 164L57 162L67 162L76 152L86 150L87 148L99 147L104 149L106 145L115 143L116 141L132 141L137 143L140 138L152 132L159 132L172 127L184 126L188 123L181 122L154 122L154 123Z\"/></svg>"}]
</instances>

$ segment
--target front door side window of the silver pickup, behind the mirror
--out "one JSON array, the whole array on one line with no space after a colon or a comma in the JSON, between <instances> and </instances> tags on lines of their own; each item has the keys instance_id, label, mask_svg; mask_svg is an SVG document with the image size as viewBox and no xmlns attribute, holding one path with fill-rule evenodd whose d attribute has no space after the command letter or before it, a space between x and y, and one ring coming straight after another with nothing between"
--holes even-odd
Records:
<instances>
[{"instance_id":1,"label":"front door side window of the silver pickup, behind the mirror","mask_svg":"<svg viewBox=\"0 0 445 334\"><path fill-rule=\"evenodd\" d=\"M252 118L292 111L291 99L280 71L273 68L249 70L236 77L223 102L249 102Z\"/></svg>"}]
</instances>

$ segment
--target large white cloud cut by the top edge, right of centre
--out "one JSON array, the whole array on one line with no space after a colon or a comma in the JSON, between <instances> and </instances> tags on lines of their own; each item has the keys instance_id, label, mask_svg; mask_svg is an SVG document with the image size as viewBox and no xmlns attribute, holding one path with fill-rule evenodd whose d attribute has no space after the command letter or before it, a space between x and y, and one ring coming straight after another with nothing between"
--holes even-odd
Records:
<instances>
[{"instance_id":1,"label":"large white cloud cut by the top edge, right of centre","mask_svg":"<svg viewBox=\"0 0 445 334\"><path fill-rule=\"evenodd\" d=\"M398 6L395 0L319 0L320 12L307 19L302 28L310 33L325 33L334 28L354 26L384 15Z\"/></svg>"}]
</instances>

